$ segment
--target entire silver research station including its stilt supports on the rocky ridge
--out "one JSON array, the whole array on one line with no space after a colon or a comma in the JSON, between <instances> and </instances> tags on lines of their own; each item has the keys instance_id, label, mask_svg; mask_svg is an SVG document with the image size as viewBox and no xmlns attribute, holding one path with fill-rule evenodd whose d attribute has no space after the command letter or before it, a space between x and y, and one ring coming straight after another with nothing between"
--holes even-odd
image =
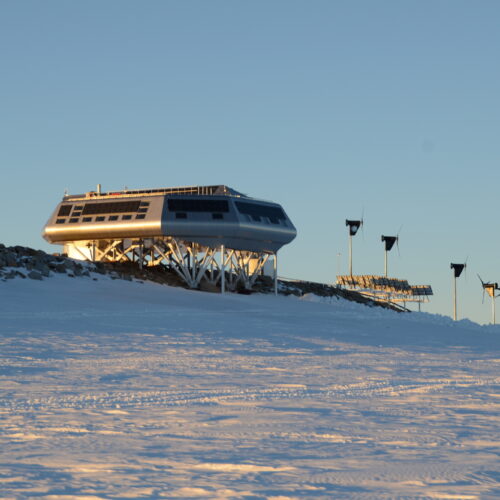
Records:
<instances>
[{"instance_id":1,"label":"entire silver research station including its stilt supports on the rocky ridge","mask_svg":"<svg viewBox=\"0 0 500 500\"><path fill-rule=\"evenodd\" d=\"M227 186L65 195L43 237L69 257L164 264L190 288L250 289L266 267L277 290L277 253L297 231L283 208Z\"/></svg>"}]
</instances>

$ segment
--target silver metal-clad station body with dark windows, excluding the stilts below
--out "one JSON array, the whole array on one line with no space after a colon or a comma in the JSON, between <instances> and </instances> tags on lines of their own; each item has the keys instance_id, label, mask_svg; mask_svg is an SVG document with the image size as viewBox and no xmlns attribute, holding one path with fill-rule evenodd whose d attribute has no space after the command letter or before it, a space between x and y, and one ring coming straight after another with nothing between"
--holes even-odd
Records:
<instances>
[{"instance_id":1,"label":"silver metal-clad station body with dark windows, excluding the stilts below","mask_svg":"<svg viewBox=\"0 0 500 500\"><path fill-rule=\"evenodd\" d=\"M67 195L43 231L49 243L174 237L275 253L297 232L283 208L226 186Z\"/></svg>"}]
</instances>

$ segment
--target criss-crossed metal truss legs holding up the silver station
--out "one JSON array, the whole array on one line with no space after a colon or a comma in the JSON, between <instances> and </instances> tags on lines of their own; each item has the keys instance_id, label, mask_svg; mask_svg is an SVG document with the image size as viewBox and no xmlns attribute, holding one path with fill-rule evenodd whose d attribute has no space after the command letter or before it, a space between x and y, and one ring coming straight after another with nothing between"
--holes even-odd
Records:
<instances>
[{"instance_id":1,"label":"criss-crossed metal truss legs holding up the silver station","mask_svg":"<svg viewBox=\"0 0 500 500\"><path fill-rule=\"evenodd\" d=\"M274 283L277 292L277 256L265 252L217 248L173 237L74 241L64 245L70 256L93 262L137 262L143 266L164 264L173 269L190 288L205 279L221 291L239 286L250 290L263 273L269 257L274 257Z\"/></svg>"}]
</instances>

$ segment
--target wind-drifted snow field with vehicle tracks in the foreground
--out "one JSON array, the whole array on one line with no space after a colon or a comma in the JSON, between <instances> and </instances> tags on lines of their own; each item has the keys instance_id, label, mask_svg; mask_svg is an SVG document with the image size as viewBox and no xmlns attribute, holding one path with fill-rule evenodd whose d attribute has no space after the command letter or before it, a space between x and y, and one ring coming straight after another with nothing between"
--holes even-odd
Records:
<instances>
[{"instance_id":1,"label":"wind-drifted snow field with vehicle tracks in the foreground","mask_svg":"<svg viewBox=\"0 0 500 500\"><path fill-rule=\"evenodd\" d=\"M500 497L500 328L109 277L0 282L0 497Z\"/></svg>"}]
</instances>

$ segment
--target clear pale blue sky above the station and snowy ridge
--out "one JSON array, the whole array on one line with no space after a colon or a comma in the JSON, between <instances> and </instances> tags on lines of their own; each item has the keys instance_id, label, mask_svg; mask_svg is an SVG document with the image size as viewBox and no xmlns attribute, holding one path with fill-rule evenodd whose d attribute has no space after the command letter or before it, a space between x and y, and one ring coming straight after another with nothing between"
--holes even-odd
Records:
<instances>
[{"instance_id":1,"label":"clear pale blue sky above the station and snowy ridge","mask_svg":"<svg viewBox=\"0 0 500 500\"><path fill-rule=\"evenodd\" d=\"M489 321L500 282L500 2L0 3L1 238L40 236L64 190L223 183L282 203L280 274L431 284ZM500 305L500 303L499 303Z\"/></svg>"}]
</instances>

